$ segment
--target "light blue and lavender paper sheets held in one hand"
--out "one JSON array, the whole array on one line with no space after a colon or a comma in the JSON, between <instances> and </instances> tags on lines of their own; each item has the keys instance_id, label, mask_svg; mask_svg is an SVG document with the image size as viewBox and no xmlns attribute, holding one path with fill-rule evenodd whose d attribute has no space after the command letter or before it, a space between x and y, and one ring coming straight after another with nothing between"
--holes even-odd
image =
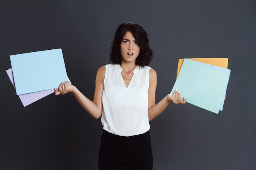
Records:
<instances>
[{"instance_id":1,"label":"light blue and lavender paper sheets held in one hand","mask_svg":"<svg viewBox=\"0 0 256 170\"><path fill-rule=\"evenodd\" d=\"M12 68L6 72L24 107L70 81L61 49L10 55L10 60Z\"/></svg>"}]
</instances>

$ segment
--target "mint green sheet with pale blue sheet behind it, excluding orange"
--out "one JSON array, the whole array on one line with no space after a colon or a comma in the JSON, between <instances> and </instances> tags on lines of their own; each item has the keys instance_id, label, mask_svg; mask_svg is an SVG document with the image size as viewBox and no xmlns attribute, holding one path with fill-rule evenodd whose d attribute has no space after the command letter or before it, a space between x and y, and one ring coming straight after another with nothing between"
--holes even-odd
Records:
<instances>
[{"instance_id":1,"label":"mint green sheet with pale blue sheet behind it, excluding orange","mask_svg":"<svg viewBox=\"0 0 256 170\"><path fill-rule=\"evenodd\" d=\"M213 113L222 110L230 70L184 59L173 91L180 91L186 102Z\"/></svg>"}]
</instances>

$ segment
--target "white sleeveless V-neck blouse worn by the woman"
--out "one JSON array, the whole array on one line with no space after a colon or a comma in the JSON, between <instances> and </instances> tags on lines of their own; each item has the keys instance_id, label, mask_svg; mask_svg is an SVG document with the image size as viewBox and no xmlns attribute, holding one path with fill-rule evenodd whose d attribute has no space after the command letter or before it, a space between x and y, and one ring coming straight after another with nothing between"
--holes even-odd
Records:
<instances>
[{"instance_id":1,"label":"white sleeveless V-neck blouse worn by the woman","mask_svg":"<svg viewBox=\"0 0 256 170\"><path fill-rule=\"evenodd\" d=\"M103 129L119 136L133 136L150 129L148 121L149 66L137 66L128 87L119 64L107 64L102 95Z\"/></svg>"}]
</instances>

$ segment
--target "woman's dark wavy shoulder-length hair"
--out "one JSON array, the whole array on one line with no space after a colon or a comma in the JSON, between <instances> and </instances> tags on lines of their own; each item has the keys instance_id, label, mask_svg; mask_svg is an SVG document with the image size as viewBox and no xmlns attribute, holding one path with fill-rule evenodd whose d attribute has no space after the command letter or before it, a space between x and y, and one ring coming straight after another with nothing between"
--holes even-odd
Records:
<instances>
[{"instance_id":1,"label":"woman's dark wavy shoulder-length hair","mask_svg":"<svg viewBox=\"0 0 256 170\"><path fill-rule=\"evenodd\" d=\"M135 61L138 66L148 66L153 59L153 50L149 47L149 38L142 26L132 22L122 23L117 27L115 38L112 41L110 58L112 64L121 64L122 56L120 52L120 44L127 31L130 31L140 46L139 55Z\"/></svg>"}]
</instances>

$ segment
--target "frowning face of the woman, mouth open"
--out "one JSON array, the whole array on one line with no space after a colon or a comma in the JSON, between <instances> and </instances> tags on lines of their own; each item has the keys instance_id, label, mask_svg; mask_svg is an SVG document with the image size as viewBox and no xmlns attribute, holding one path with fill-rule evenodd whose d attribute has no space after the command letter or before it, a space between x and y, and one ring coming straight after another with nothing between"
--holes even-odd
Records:
<instances>
[{"instance_id":1,"label":"frowning face of the woman, mouth open","mask_svg":"<svg viewBox=\"0 0 256 170\"><path fill-rule=\"evenodd\" d=\"M130 31L127 31L120 44L122 62L135 62L139 55L140 46Z\"/></svg>"}]
</instances>

